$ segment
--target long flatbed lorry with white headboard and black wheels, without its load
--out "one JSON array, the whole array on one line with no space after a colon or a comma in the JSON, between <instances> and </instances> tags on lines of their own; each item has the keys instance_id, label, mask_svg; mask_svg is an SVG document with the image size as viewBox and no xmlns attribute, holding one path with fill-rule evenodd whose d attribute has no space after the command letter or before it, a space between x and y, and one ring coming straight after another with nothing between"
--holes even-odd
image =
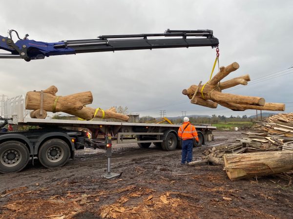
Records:
<instances>
[{"instance_id":1,"label":"long flatbed lorry with white headboard and black wheels, without its load","mask_svg":"<svg viewBox=\"0 0 293 219\"><path fill-rule=\"evenodd\" d=\"M177 134L180 125L25 118L23 100L21 95L8 103L12 108L5 115L9 118L8 123L38 128L0 133L2 173L20 171L30 158L34 162L35 157L47 168L63 166L69 157L74 159L77 149L105 148L109 135L117 139L117 144L137 143L147 148L153 143L167 151L181 148ZM213 140L212 130L216 127L206 124L195 125L195 128L199 136L198 146ZM88 138L86 129L91 131L92 139Z\"/></svg>"}]
</instances>

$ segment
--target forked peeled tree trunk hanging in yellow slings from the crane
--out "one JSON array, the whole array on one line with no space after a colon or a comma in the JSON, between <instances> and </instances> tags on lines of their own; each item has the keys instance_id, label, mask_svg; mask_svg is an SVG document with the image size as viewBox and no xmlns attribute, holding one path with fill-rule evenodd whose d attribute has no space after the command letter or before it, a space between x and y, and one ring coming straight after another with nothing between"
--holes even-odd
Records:
<instances>
[{"instance_id":1,"label":"forked peeled tree trunk hanging in yellow slings from the crane","mask_svg":"<svg viewBox=\"0 0 293 219\"><path fill-rule=\"evenodd\" d=\"M234 111L243 110L272 110L284 111L285 104L282 103L266 103L262 97L243 96L231 93L222 93L223 90L234 87L236 85L247 85L250 81L249 74L235 77L233 79L220 82L229 73L239 68L239 64L234 62L227 67L220 67L218 72L211 80L198 85L191 85L188 89L184 89L182 93L187 95L192 104L197 104L209 108L217 108L218 104Z\"/></svg>"}]
</instances>

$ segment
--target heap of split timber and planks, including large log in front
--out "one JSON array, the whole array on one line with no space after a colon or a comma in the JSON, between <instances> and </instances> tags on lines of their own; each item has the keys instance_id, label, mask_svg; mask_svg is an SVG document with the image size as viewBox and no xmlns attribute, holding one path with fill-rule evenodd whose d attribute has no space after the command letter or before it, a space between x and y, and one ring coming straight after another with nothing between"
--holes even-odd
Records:
<instances>
[{"instance_id":1,"label":"heap of split timber and planks, including large log in front","mask_svg":"<svg viewBox=\"0 0 293 219\"><path fill-rule=\"evenodd\" d=\"M293 113L274 115L266 121L258 122L253 132L243 133L247 137L236 139L233 144L205 150L203 160L189 165L225 164L232 181L292 171ZM290 182L292 180L290 178Z\"/></svg>"}]
</instances>

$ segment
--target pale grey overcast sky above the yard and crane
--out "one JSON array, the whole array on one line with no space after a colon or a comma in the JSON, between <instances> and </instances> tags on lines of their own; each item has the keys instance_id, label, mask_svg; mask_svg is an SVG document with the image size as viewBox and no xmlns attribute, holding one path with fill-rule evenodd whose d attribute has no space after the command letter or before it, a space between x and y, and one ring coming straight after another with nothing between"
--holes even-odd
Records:
<instances>
[{"instance_id":1,"label":"pale grey overcast sky above the yard and crane","mask_svg":"<svg viewBox=\"0 0 293 219\"><path fill-rule=\"evenodd\" d=\"M286 103L286 112L292 112L292 9L292 0L9 1L1 5L0 35L7 37L7 30L14 29L21 37L29 34L29 39L58 42L164 33L168 28L210 29L220 41L220 65L234 61L240 65L225 79L251 76L248 86L229 91ZM13 97L55 85L62 96L91 91L93 108L123 106L140 116L159 117L160 110L170 117L182 111L187 115L255 114L255 110L193 105L181 93L209 80L215 54L210 47L191 47L50 56L30 62L0 59L0 94Z\"/></svg>"}]
</instances>

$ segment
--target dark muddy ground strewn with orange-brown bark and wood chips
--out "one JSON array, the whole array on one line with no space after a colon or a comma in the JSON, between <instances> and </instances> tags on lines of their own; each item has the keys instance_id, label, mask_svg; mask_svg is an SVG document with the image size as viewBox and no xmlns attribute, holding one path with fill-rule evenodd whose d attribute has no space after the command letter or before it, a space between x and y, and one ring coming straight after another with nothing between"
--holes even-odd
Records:
<instances>
[{"instance_id":1,"label":"dark muddy ground strewn with orange-brown bark and wood chips","mask_svg":"<svg viewBox=\"0 0 293 219\"><path fill-rule=\"evenodd\" d=\"M241 137L215 131L215 141L194 148L193 160L212 146ZM113 146L107 180L104 150L76 152L57 169L38 161L0 174L0 219L51 218L293 218L293 185L277 176L231 182L223 166L180 165L181 151Z\"/></svg>"}]
</instances>

